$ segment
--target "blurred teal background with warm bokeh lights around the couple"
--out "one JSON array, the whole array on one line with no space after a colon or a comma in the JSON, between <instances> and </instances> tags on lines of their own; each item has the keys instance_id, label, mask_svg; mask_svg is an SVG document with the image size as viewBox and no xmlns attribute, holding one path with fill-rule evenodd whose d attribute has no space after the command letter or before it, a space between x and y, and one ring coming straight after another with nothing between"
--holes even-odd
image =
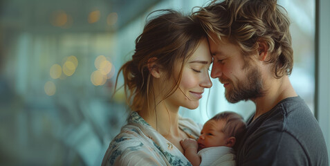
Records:
<instances>
[{"instance_id":1,"label":"blurred teal background with warm bokeh lights around the couple","mask_svg":"<svg viewBox=\"0 0 330 166\"><path fill-rule=\"evenodd\" d=\"M117 71L133 55L147 15L167 8L189 14L207 3L0 0L0 165L100 165L127 118L122 89L113 95ZM320 3L329 5L279 0L292 22L291 82L315 116L322 116L329 145L329 17L319 14L327 8ZM229 104L223 86L212 82L200 107L181 109L182 116L203 123L220 111L244 118L255 111L253 102Z\"/></svg>"}]
</instances>

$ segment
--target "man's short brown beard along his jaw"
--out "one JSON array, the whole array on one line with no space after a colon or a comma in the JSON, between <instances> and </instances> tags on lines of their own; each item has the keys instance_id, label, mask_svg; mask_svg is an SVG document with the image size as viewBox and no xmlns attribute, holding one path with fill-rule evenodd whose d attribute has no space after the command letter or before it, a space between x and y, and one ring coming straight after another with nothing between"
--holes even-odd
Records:
<instances>
[{"instance_id":1,"label":"man's short brown beard along his jaw","mask_svg":"<svg viewBox=\"0 0 330 166\"><path fill-rule=\"evenodd\" d=\"M236 103L241 100L250 100L264 95L264 84L262 75L258 68L248 69L245 80L238 80L235 86L231 80L227 80L232 85L231 89L226 89L225 96L228 102Z\"/></svg>"}]
</instances>

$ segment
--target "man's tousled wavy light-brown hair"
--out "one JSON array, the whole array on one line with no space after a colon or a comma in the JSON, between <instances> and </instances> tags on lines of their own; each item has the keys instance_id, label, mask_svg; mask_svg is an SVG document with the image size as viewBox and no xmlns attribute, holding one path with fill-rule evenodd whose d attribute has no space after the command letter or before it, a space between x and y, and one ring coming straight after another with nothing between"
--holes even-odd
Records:
<instances>
[{"instance_id":1,"label":"man's tousled wavy light-brown hair","mask_svg":"<svg viewBox=\"0 0 330 166\"><path fill-rule=\"evenodd\" d=\"M286 10L277 5L276 0L212 1L209 6L194 12L192 17L199 19L208 33L237 44L244 59L253 55L259 43L264 42L270 55L266 62L273 65L275 77L291 74L290 22Z\"/></svg>"}]
</instances>

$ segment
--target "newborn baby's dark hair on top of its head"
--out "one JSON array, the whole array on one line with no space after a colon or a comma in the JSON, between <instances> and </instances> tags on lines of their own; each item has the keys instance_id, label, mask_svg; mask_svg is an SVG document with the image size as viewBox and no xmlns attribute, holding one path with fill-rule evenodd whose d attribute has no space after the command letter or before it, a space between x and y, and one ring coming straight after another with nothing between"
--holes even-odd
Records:
<instances>
[{"instance_id":1,"label":"newborn baby's dark hair on top of its head","mask_svg":"<svg viewBox=\"0 0 330 166\"><path fill-rule=\"evenodd\" d=\"M244 119L235 112L232 111L223 111L218 113L210 120L223 120L225 122L225 126L222 129L222 132L225 133L228 137L235 137L235 145L234 149L237 148L239 142L241 142L244 133L246 132L246 122Z\"/></svg>"}]
</instances>

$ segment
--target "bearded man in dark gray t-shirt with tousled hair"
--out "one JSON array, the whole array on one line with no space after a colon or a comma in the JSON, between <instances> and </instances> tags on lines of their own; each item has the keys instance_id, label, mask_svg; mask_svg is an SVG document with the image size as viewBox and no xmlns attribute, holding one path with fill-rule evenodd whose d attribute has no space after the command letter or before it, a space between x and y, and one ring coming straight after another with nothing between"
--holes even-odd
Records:
<instances>
[{"instance_id":1,"label":"bearded man in dark gray t-shirt with tousled hair","mask_svg":"<svg viewBox=\"0 0 330 166\"><path fill-rule=\"evenodd\" d=\"M211 77L226 99L255 102L237 165L328 165L317 120L291 85L293 49L285 9L276 0L212 2L194 12L208 33Z\"/></svg>"}]
</instances>

